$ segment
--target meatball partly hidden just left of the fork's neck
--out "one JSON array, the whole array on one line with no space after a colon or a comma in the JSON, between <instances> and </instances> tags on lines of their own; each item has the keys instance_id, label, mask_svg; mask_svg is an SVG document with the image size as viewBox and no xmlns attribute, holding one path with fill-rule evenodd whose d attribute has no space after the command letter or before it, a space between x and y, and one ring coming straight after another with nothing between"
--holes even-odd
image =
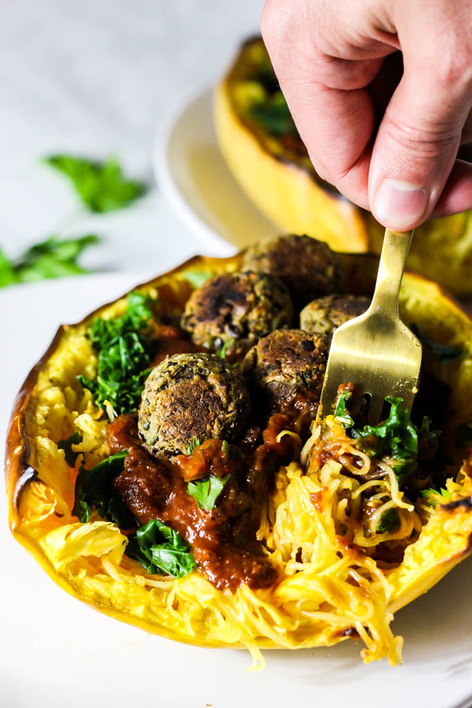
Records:
<instances>
[{"instance_id":1,"label":"meatball partly hidden just left of the fork's neck","mask_svg":"<svg viewBox=\"0 0 472 708\"><path fill-rule=\"evenodd\" d=\"M336 327L367 310L370 301L357 295L325 295L312 300L300 312L300 327L306 332L331 336Z\"/></svg>"}]
</instances>

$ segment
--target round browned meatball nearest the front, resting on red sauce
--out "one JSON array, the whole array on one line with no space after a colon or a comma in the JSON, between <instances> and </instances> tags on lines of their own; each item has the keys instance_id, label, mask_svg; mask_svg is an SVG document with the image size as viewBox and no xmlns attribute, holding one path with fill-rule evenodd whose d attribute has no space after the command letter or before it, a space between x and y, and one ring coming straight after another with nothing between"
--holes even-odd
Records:
<instances>
[{"instance_id":1,"label":"round browned meatball nearest the front, resting on red sauce","mask_svg":"<svg viewBox=\"0 0 472 708\"><path fill-rule=\"evenodd\" d=\"M214 354L175 354L146 379L138 430L151 455L187 452L193 438L232 442L244 432L251 399L241 374Z\"/></svg>"}]
</instances>

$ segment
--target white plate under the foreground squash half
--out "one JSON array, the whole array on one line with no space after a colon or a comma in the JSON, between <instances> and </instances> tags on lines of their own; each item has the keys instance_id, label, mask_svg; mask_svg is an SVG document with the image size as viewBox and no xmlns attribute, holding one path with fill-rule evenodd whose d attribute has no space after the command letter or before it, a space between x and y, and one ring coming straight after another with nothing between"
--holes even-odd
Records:
<instances>
[{"instance_id":1,"label":"white plate under the foreground squash half","mask_svg":"<svg viewBox=\"0 0 472 708\"><path fill-rule=\"evenodd\" d=\"M0 425L61 321L74 321L138 282L92 275L0 292ZM470 559L397 614L403 666L365 666L359 644L248 653L178 644L93 612L52 583L6 526L0 506L0 705L84 708L453 708L472 705Z\"/></svg>"}]
</instances>

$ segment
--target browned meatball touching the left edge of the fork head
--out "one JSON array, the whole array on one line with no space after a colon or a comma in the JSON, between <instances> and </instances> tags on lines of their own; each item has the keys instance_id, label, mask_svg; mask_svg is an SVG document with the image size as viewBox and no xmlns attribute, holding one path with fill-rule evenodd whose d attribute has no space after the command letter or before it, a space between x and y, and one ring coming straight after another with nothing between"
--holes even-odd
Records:
<instances>
[{"instance_id":1,"label":"browned meatball touching the left edge of the fork head","mask_svg":"<svg viewBox=\"0 0 472 708\"><path fill-rule=\"evenodd\" d=\"M268 334L246 354L241 365L270 412L309 404L316 412L328 360L328 338L301 329Z\"/></svg>"}]
</instances>

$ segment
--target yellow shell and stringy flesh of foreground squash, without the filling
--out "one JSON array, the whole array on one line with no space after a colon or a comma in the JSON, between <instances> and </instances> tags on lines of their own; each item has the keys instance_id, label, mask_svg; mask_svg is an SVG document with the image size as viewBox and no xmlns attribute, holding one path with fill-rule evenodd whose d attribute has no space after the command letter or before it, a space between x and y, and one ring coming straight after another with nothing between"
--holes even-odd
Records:
<instances>
[{"instance_id":1,"label":"yellow shell and stringy flesh of foreground squash, without the filling","mask_svg":"<svg viewBox=\"0 0 472 708\"><path fill-rule=\"evenodd\" d=\"M348 291L369 292L376 259L342 258ZM197 256L138 290L157 295L162 312L178 314L192 290L189 273L224 273L236 270L240 263L241 254L223 260ZM123 554L127 539L116 525L99 519L81 524L72 515L77 470L67 466L64 451L57 447L61 438L79 429L83 442L78 448L87 467L108 455L105 416L76 376L93 376L96 370L96 355L85 336L93 316L117 316L125 306L122 297L78 324L61 326L18 394L6 448L14 537L71 595L149 632L203 646L246 646L256 663L263 661L261 648L327 646L361 635L367 644L365 661L382 656L391 663L399 661L401 638L393 637L389 629L393 612L428 590L471 552L472 458L462 464L450 503L438 506L418 540L406 550L403 562L386 573L369 560L363 586L353 585L346 573L364 560L335 535L329 510L316 510L310 502L310 478L295 462L280 478L272 503L275 523L280 510L279 532L282 529L287 535L284 544L292 534L296 545L301 535L302 542L316 546L306 568L289 571L290 553L285 562L281 551L273 556L283 570L280 583L262 590L241 586L234 594L217 590L198 571L179 580L149 576ZM451 386L444 435L454 435L457 426L472 419L471 318L439 286L413 274L403 280L401 312L405 321L415 321L427 336L465 352L452 364L432 364ZM459 467L460 459L455 469Z\"/></svg>"}]
</instances>

